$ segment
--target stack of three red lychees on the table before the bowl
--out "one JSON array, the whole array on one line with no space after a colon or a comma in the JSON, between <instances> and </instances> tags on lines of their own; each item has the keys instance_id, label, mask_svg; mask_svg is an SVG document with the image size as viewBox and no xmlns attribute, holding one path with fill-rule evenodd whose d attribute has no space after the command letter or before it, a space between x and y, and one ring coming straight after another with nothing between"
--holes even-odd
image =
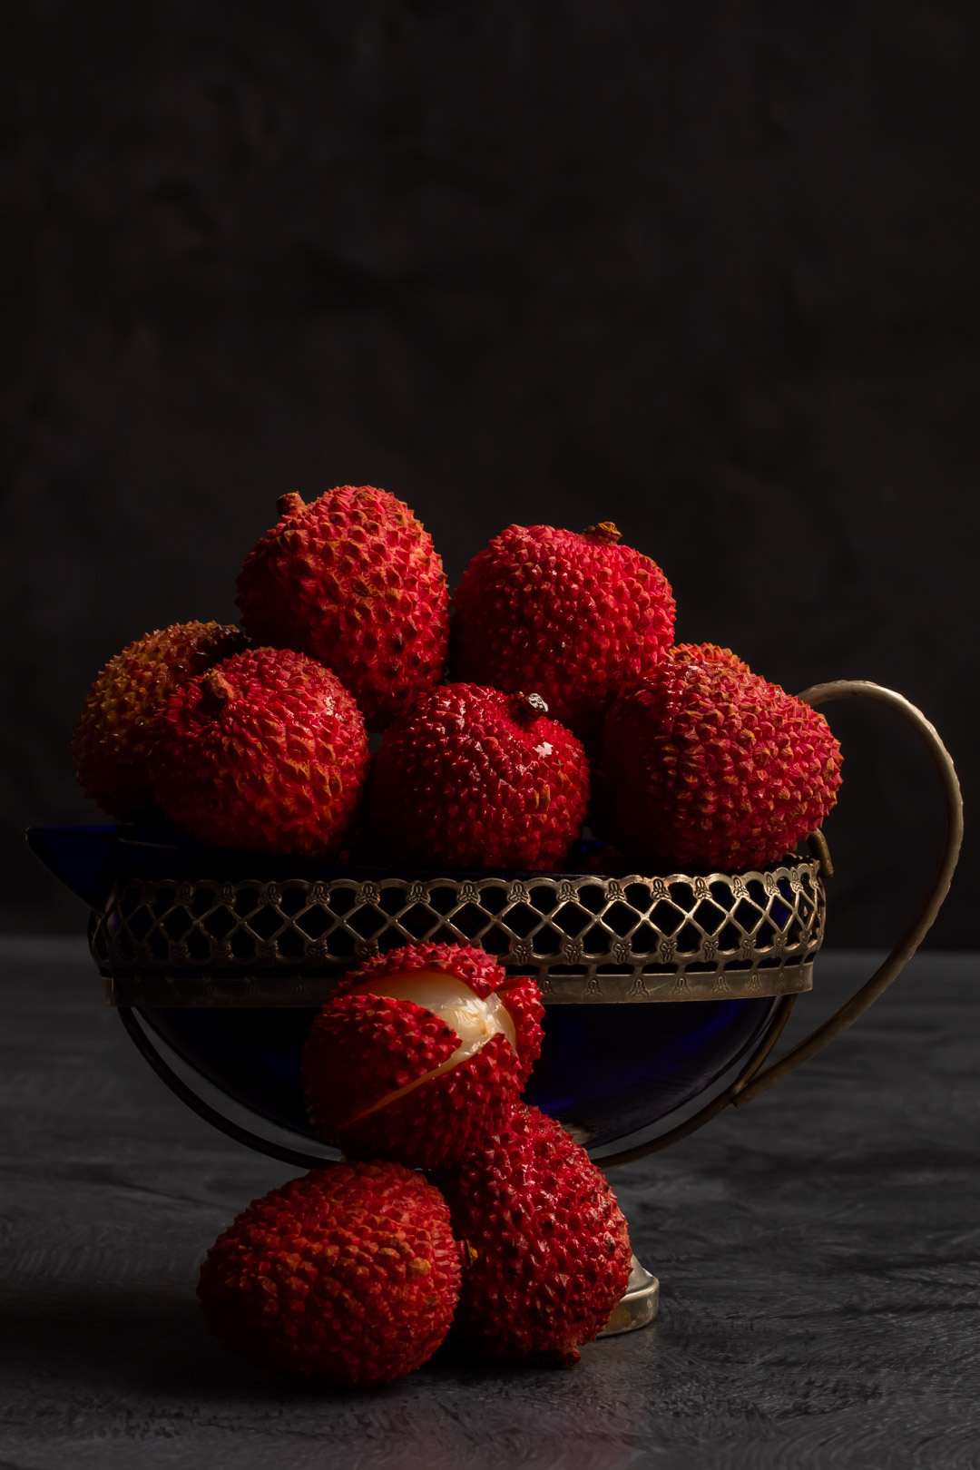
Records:
<instances>
[{"instance_id":1,"label":"stack of three red lychees on the table before the bowl","mask_svg":"<svg viewBox=\"0 0 980 1470\"><path fill-rule=\"evenodd\" d=\"M542 1013L533 979L464 945L347 976L303 1054L310 1119L345 1158L254 1201L209 1251L198 1297L226 1347L334 1385L401 1377L450 1327L489 1358L579 1358L632 1257L604 1175L519 1101Z\"/></svg>"}]
</instances>

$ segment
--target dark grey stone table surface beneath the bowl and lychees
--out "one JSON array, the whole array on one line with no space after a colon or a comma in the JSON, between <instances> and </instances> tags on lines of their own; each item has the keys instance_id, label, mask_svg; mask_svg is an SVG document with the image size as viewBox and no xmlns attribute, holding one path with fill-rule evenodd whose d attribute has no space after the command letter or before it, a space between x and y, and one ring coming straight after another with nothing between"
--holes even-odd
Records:
<instances>
[{"instance_id":1,"label":"dark grey stone table surface beneath the bowl and lychees","mask_svg":"<svg viewBox=\"0 0 980 1470\"><path fill-rule=\"evenodd\" d=\"M444 1349L345 1394L239 1363L197 1311L207 1245L294 1170L163 1088L82 944L0 960L0 1470L980 1466L976 956L917 958L780 1088L613 1175L652 1327L572 1370ZM823 956L796 1022L870 967Z\"/></svg>"}]
</instances>

